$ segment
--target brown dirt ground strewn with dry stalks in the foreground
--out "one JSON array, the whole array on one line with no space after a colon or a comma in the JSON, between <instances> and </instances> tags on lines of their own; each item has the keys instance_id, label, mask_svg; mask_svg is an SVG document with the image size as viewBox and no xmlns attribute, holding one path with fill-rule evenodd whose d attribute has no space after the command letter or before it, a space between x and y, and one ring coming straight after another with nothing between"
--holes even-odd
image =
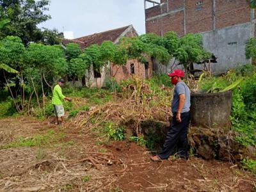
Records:
<instances>
[{"instance_id":1,"label":"brown dirt ground strewn with dry stalks in the foreground","mask_svg":"<svg viewBox=\"0 0 256 192\"><path fill-rule=\"evenodd\" d=\"M50 130L56 140L44 145L6 147ZM101 141L95 132L53 125L51 119L1 119L0 191L256 190L256 178L236 164L197 157L154 163L136 143Z\"/></svg>"}]
</instances>

